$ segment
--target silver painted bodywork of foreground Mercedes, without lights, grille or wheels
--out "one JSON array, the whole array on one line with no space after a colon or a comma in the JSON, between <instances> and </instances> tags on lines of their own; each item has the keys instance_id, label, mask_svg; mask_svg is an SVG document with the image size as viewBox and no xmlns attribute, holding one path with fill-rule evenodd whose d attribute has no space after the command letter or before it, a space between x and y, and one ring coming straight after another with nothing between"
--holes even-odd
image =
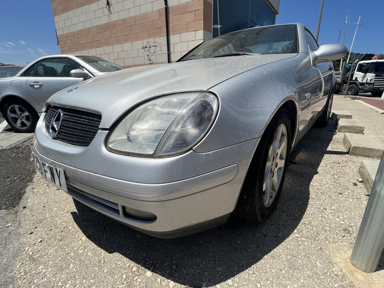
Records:
<instances>
[{"instance_id":1,"label":"silver painted bodywork of foreground Mercedes, without lights, grille or wheels","mask_svg":"<svg viewBox=\"0 0 384 288\"><path fill-rule=\"evenodd\" d=\"M87 147L53 140L45 129L44 113L33 151L63 167L72 197L145 233L172 238L219 225L235 209L258 143L281 106L293 116L292 148L332 96L331 62L312 64L305 27L297 27L297 54L137 67L56 93L44 110L55 105L99 113L100 130ZM132 109L149 99L184 91L208 91L219 103L214 124L192 149L164 158L126 156L106 149L110 131ZM124 207L151 212L157 219L132 219L124 214Z\"/></svg>"}]
</instances>

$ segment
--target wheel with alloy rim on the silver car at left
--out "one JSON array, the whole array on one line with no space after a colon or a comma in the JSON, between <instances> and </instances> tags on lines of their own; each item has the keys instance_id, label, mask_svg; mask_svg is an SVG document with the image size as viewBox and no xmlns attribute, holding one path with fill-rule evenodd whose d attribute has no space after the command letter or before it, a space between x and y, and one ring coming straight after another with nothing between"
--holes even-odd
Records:
<instances>
[{"instance_id":1,"label":"wheel with alloy rim on the silver car at left","mask_svg":"<svg viewBox=\"0 0 384 288\"><path fill-rule=\"evenodd\" d=\"M20 133L34 132L39 116L25 101L14 99L4 105L3 116L13 130Z\"/></svg>"}]
</instances>

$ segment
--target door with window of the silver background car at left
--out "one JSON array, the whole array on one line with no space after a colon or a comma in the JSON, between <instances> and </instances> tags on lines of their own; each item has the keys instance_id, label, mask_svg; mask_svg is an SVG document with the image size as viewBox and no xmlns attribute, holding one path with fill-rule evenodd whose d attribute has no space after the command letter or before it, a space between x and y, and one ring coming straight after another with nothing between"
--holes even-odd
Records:
<instances>
[{"instance_id":1,"label":"door with window of the silver background car at left","mask_svg":"<svg viewBox=\"0 0 384 288\"><path fill-rule=\"evenodd\" d=\"M26 85L37 103L43 106L56 92L83 81L70 76L70 71L74 69L84 70L68 58L44 59L26 71L25 76L32 76L26 80Z\"/></svg>"}]
</instances>

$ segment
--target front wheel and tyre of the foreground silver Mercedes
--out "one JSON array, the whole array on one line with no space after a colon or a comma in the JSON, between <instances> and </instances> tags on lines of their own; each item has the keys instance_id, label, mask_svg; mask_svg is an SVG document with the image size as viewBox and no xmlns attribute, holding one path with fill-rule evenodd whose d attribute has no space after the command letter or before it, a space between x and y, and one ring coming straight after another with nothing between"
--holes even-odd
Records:
<instances>
[{"instance_id":1,"label":"front wheel and tyre of the foreground silver Mercedes","mask_svg":"<svg viewBox=\"0 0 384 288\"><path fill-rule=\"evenodd\" d=\"M258 223L272 215L283 189L290 144L290 117L282 109L266 128L248 168L235 208L240 218Z\"/></svg>"}]
</instances>

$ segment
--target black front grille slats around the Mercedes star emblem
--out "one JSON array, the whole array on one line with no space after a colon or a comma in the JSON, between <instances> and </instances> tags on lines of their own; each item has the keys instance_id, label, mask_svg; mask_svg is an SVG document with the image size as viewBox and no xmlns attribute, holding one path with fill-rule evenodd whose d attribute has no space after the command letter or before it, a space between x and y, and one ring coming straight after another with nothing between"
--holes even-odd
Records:
<instances>
[{"instance_id":1,"label":"black front grille slats around the Mercedes star emblem","mask_svg":"<svg viewBox=\"0 0 384 288\"><path fill-rule=\"evenodd\" d=\"M63 120L55 139L77 145L88 146L99 131L101 115L71 108L51 106L46 111L45 128L49 132L52 117L61 109Z\"/></svg>"}]
</instances>

